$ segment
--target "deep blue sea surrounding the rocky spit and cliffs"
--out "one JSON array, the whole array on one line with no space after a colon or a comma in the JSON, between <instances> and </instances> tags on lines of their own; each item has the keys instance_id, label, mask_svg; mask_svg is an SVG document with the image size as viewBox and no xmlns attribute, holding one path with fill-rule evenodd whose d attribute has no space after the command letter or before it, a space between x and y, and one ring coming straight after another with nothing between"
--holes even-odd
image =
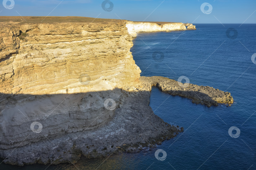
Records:
<instances>
[{"instance_id":1,"label":"deep blue sea surrounding the rocky spit and cliffs","mask_svg":"<svg viewBox=\"0 0 256 170\"><path fill-rule=\"evenodd\" d=\"M184 132L137 154L81 159L75 165L4 169L256 169L256 24L195 24L198 30L139 33L131 52L141 76L165 76L228 91L234 103L197 105L152 87L150 106ZM233 131L232 131L233 130ZM158 160L155 151L166 152ZM161 155L162 154L162 155Z\"/></svg>"}]
</instances>

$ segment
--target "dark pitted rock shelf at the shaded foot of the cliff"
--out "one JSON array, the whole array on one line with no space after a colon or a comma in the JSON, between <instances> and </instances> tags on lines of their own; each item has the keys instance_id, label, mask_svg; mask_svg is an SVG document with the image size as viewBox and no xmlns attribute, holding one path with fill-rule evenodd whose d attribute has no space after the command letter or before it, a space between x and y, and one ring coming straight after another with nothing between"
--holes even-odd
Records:
<instances>
[{"instance_id":1,"label":"dark pitted rock shelf at the shaded foot of the cliff","mask_svg":"<svg viewBox=\"0 0 256 170\"><path fill-rule=\"evenodd\" d=\"M139 87L139 84L134 86L122 89L121 107L115 110L113 118L108 119L109 121L104 126L91 130L81 128L80 132L59 133L54 137L46 136L45 139L38 137L37 142L26 145L24 145L25 141L21 141L22 147L17 147L14 151L13 148L0 150L2 158L8 157L4 160L4 163L17 165L31 163L58 164L70 163L70 161L75 163L81 156L97 158L122 152L137 153L140 150L155 147L156 144L161 144L163 140L173 138L183 131L183 127L177 128L169 125L156 116L149 106L150 92L144 91L143 88ZM131 90L126 91L127 88ZM105 94L101 93L101 95L104 96ZM70 99L68 102L70 102ZM76 101L74 102L76 103ZM61 107L65 107L65 104ZM98 110L98 113L101 112L101 114L107 115L106 111L109 110L105 108L104 110ZM95 118L96 113L76 112L72 114L76 118L80 116L81 120L84 115L94 116L94 119L87 122L99 121L98 118ZM58 121L63 122L63 118L56 117L56 123ZM103 117L101 116L101 118ZM41 123L43 125L41 133L31 131L24 138L29 138L31 135L42 137L47 135L48 127L45 126L49 122L41 121ZM82 121L81 123L86 122ZM70 122L69 125L72 125L72 123ZM27 129L29 129L29 126L30 124L27 124ZM52 131L56 129L56 127L51 128L53 128Z\"/></svg>"}]
</instances>

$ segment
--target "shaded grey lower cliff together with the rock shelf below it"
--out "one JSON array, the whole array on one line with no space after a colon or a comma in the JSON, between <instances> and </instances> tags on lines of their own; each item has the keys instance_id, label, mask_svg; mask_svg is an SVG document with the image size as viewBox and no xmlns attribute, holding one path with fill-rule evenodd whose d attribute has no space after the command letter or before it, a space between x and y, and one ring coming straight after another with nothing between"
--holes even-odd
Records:
<instances>
[{"instance_id":1,"label":"shaded grey lower cliff together with the rock shelf below it","mask_svg":"<svg viewBox=\"0 0 256 170\"><path fill-rule=\"evenodd\" d=\"M9 164L58 164L155 147L183 127L156 116L149 96L119 88L9 96L1 103L0 157Z\"/></svg>"}]
</instances>

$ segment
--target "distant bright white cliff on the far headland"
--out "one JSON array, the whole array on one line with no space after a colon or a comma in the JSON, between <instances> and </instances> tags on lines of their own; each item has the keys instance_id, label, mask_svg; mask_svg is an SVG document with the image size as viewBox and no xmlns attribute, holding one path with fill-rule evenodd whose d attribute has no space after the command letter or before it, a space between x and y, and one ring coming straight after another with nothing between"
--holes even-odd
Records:
<instances>
[{"instance_id":1,"label":"distant bright white cliff on the far headland","mask_svg":"<svg viewBox=\"0 0 256 170\"><path fill-rule=\"evenodd\" d=\"M192 25L192 24L191 24ZM137 37L137 32L155 32L155 31L174 31L174 30L186 30L186 24L177 22L177 23L165 23L157 24L153 22L133 22L128 21L126 27L129 34L132 37ZM194 25L189 26L188 29L195 28Z\"/></svg>"}]
</instances>

